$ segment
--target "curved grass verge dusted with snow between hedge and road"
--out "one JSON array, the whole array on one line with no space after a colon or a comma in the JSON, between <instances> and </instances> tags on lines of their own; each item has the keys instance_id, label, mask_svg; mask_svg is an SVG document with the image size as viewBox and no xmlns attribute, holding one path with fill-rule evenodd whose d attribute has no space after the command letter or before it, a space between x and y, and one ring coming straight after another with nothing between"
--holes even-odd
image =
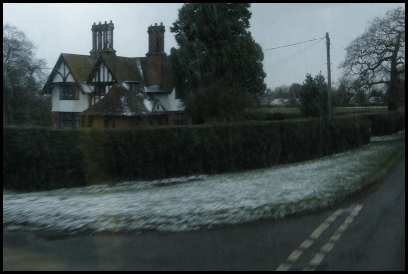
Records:
<instances>
[{"instance_id":1,"label":"curved grass verge dusted with snow between hedge and road","mask_svg":"<svg viewBox=\"0 0 408 274\"><path fill-rule=\"evenodd\" d=\"M280 217L329 205L363 187L396 151L392 146L368 145L312 161L237 173L35 193L4 190L3 224L9 230L73 234L188 231Z\"/></svg>"}]
</instances>

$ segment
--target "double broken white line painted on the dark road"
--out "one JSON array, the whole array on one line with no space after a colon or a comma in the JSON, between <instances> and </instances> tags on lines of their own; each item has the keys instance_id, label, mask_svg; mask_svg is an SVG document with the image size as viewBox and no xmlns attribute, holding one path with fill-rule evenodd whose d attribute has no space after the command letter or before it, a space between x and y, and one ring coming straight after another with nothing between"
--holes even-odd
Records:
<instances>
[{"instance_id":1,"label":"double broken white line painted on the dark road","mask_svg":"<svg viewBox=\"0 0 408 274\"><path fill-rule=\"evenodd\" d=\"M341 236L341 234L348 228L348 226L353 222L354 217L359 214L359 211L363 208L363 205L356 205L354 210L350 213L349 216L346 217L343 224L336 230L336 232L331 235L329 241L320 249L320 252L316 253L313 259L309 262L309 265L304 267L304 271L315 270L315 267L318 266L321 261L324 259L324 256L330 252L333 248L335 242L337 242ZM293 251L289 257L286 259L286 263L282 263L276 269L277 271L286 271L292 266L291 263L295 262L300 255L303 253L304 250L310 248L310 246L314 243L314 240L319 238L319 236L336 220L336 217L343 213L343 209L338 209L333 212L327 219L324 221L318 228L313 231L313 233L309 236L309 239L304 240L300 245L299 248ZM289 263L290 262L290 263Z\"/></svg>"}]
</instances>

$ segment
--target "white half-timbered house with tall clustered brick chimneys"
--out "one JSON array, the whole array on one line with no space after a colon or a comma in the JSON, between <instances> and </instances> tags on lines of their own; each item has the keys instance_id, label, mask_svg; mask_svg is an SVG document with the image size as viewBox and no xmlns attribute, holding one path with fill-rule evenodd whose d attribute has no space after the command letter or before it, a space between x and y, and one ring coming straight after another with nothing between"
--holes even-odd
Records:
<instances>
[{"instance_id":1,"label":"white half-timbered house with tall clustered brick chimneys","mask_svg":"<svg viewBox=\"0 0 408 274\"><path fill-rule=\"evenodd\" d=\"M44 86L54 126L191 124L167 71L163 23L148 27L149 49L139 58L116 56L113 29L112 21L93 23L89 56L61 53Z\"/></svg>"}]
</instances>

